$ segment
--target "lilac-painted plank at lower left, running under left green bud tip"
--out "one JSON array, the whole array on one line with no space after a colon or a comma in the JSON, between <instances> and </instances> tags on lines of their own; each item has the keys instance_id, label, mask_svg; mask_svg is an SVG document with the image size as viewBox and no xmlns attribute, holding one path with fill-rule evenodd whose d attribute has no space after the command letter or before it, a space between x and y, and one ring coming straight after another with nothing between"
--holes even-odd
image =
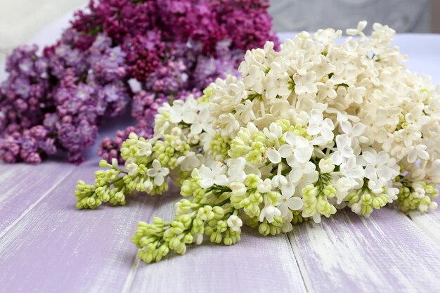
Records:
<instances>
[{"instance_id":1,"label":"lilac-painted plank at lower left, running under left green bud tip","mask_svg":"<svg viewBox=\"0 0 440 293\"><path fill-rule=\"evenodd\" d=\"M78 211L75 184L93 181L97 164L76 167L0 238L0 292L122 292L136 256L131 233L157 199Z\"/></svg>"}]
</instances>

